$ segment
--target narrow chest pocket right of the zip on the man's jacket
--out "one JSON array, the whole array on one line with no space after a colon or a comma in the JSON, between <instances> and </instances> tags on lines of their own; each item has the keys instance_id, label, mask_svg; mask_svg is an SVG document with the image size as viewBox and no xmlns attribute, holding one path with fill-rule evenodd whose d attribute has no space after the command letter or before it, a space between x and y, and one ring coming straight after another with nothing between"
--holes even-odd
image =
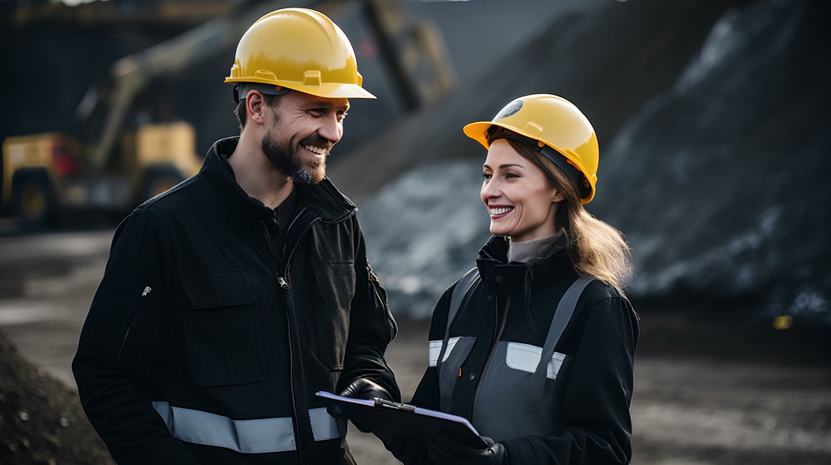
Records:
<instances>
[{"instance_id":1,"label":"narrow chest pocket right of the zip on the man's jacket","mask_svg":"<svg viewBox=\"0 0 831 465\"><path fill-rule=\"evenodd\" d=\"M317 355L328 370L343 370L349 335L349 314L355 297L355 264L352 261L312 264L315 293Z\"/></svg>"}]
</instances>

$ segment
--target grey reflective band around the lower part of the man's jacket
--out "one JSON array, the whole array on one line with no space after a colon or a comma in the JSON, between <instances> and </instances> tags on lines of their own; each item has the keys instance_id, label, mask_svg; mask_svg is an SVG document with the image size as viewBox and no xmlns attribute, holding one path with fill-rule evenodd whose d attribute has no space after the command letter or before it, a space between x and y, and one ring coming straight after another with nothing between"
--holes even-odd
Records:
<instances>
[{"instance_id":1,"label":"grey reflective band around the lower part of the man's jacket","mask_svg":"<svg viewBox=\"0 0 831 465\"><path fill-rule=\"evenodd\" d=\"M234 420L200 410L154 402L153 408L165 420L170 434L185 443L228 448L239 453L288 452L297 449L291 417ZM309 410L315 441L342 438L347 420L335 419L326 409Z\"/></svg>"}]
</instances>

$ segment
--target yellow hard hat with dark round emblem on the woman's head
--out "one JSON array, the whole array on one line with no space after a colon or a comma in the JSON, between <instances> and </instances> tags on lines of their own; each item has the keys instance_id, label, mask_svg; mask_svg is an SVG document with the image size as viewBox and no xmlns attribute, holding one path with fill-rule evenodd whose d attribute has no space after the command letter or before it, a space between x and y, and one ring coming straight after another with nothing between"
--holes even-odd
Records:
<instances>
[{"instance_id":1,"label":"yellow hard hat with dark round emblem on the woman's head","mask_svg":"<svg viewBox=\"0 0 831 465\"><path fill-rule=\"evenodd\" d=\"M525 95L505 105L493 120L470 123L464 130L485 149L489 149L490 140L500 137L521 139L505 135L499 128L531 139L525 142L534 144L577 186L580 201L592 201L600 149L592 124L576 105L558 95Z\"/></svg>"}]
</instances>

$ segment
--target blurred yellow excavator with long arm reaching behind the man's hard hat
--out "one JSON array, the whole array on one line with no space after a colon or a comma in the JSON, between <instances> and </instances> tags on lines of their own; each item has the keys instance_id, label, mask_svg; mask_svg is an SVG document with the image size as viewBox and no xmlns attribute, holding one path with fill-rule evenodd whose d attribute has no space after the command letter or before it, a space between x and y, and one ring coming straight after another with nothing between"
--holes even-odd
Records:
<instances>
[{"instance_id":1,"label":"blurred yellow excavator with long arm reaching behind the man's hard hat","mask_svg":"<svg viewBox=\"0 0 831 465\"><path fill-rule=\"evenodd\" d=\"M194 12L176 8L175 3L193 2L159 2L150 12L168 19L171 12L174 17ZM91 86L76 110L91 140L59 132L7 137L2 145L2 205L17 217L18 227L48 228L68 208L124 213L195 174L201 159L193 125L182 120L145 121L126 128L127 116L154 82L180 76L217 51L234 47L258 17L286 6L276 1L237 2L219 17L116 61L106 85ZM440 32L430 24L408 24L397 2L307 1L292 6L315 8L335 22L347 7L357 7L405 112L429 105L454 85ZM44 8L66 14L66 9ZM77 14L76 21L125 20L121 10L105 12ZM150 12L145 7L136 14ZM22 17L30 18L32 12L27 15Z\"/></svg>"}]
</instances>

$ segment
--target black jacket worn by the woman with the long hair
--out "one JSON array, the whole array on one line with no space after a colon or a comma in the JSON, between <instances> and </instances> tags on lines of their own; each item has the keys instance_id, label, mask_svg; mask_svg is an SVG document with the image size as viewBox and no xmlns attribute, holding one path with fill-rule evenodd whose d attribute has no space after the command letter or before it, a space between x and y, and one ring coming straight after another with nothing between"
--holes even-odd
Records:
<instances>
[{"instance_id":1,"label":"black jacket worn by the woman with the long hair","mask_svg":"<svg viewBox=\"0 0 831 465\"><path fill-rule=\"evenodd\" d=\"M475 427L477 407L495 409L496 417L500 409L511 409L511 392L504 392L501 404L476 405L477 387L488 376L485 367L491 366L493 371L494 363L505 364L505 360L489 360L497 342L495 336L502 341L543 347L558 302L578 278L564 249L529 264L505 263L507 249L503 237L492 237L481 249L477 260L481 281L450 325L450 338L475 336L475 343L453 385L449 413L470 419ZM445 291L435 307L431 341L445 337L454 287ZM509 299L509 311L505 311ZM554 411L549 433L500 441L509 463L629 463L629 406L638 335L637 316L629 302L612 286L601 281L589 283L556 345L565 360L550 394L554 396ZM498 385L499 379L492 376L488 382ZM412 404L440 409L439 372L435 366L426 370ZM425 451L416 455L420 457L414 457L411 463L429 463Z\"/></svg>"}]
</instances>

